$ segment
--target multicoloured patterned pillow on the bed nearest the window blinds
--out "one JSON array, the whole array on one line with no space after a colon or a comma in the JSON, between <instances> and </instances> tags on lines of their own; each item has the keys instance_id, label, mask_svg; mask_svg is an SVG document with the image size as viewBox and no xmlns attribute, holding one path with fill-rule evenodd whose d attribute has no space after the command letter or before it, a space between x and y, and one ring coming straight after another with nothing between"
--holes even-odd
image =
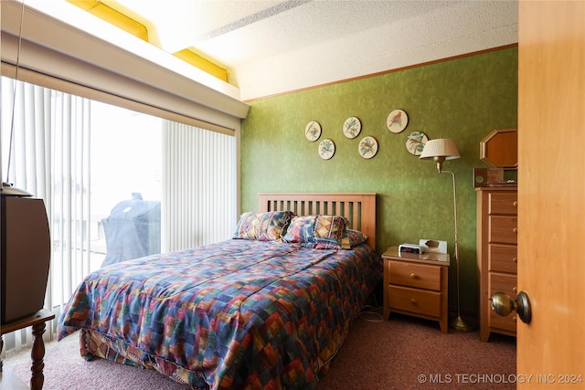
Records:
<instances>
[{"instance_id":1,"label":"multicoloured patterned pillow on the bed nearest the window blinds","mask_svg":"<svg viewBox=\"0 0 585 390\"><path fill-rule=\"evenodd\" d=\"M282 233L294 216L292 211L249 211L239 216L233 238L258 241L281 241Z\"/></svg>"}]
</instances>

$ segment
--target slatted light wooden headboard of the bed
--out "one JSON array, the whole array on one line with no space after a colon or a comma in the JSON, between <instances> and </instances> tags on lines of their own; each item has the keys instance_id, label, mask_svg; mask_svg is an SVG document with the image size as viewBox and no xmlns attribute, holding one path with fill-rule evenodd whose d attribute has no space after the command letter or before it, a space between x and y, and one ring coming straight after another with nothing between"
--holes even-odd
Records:
<instances>
[{"instance_id":1,"label":"slatted light wooden headboard of the bed","mask_svg":"<svg viewBox=\"0 0 585 390\"><path fill-rule=\"evenodd\" d=\"M376 250L376 193L261 193L258 210L345 216L349 227L366 234L367 245Z\"/></svg>"}]
</instances>

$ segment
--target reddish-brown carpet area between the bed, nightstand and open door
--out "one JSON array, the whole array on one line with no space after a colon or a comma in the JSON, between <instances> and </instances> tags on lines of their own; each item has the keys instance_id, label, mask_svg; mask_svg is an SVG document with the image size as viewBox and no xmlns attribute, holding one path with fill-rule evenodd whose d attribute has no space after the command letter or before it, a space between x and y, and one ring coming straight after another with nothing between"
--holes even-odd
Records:
<instances>
[{"instance_id":1,"label":"reddish-brown carpet area between the bed, nightstand and open door","mask_svg":"<svg viewBox=\"0 0 585 390\"><path fill-rule=\"evenodd\" d=\"M352 326L317 390L516 389L516 338L441 333L439 322L396 313ZM371 319L370 319L371 320Z\"/></svg>"}]
</instances>

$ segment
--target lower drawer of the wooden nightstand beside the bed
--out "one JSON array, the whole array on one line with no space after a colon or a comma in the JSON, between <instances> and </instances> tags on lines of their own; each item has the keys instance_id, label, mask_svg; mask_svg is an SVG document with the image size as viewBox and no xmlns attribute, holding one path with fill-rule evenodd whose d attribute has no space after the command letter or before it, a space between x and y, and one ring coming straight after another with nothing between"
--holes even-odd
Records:
<instances>
[{"instance_id":1,"label":"lower drawer of the wooden nightstand beside the bed","mask_svg":"<svg viewBox=\"0 0 585 390\"><path fill-rule=\"evenodd\" d=\"M441 316L441 293L390 285L388 286L388 305L390 309L439 317Z\"/></svg>"}]
</instances>

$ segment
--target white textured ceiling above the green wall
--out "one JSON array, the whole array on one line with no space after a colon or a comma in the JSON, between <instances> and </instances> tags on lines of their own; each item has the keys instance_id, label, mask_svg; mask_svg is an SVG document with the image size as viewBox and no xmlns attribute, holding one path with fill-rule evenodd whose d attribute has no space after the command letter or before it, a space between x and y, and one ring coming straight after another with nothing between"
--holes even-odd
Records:
<instances>
[{"instance_id":1,"label":"white textured ceiling above the green wall","mask_svg":"<svg viewBox=\"0 0 585 390\"><path fill-rule=\"evenodd\" d=\"M516 0L101 1L214 58L242 100L517 43Z\"/></svg>"}]
</instances>

